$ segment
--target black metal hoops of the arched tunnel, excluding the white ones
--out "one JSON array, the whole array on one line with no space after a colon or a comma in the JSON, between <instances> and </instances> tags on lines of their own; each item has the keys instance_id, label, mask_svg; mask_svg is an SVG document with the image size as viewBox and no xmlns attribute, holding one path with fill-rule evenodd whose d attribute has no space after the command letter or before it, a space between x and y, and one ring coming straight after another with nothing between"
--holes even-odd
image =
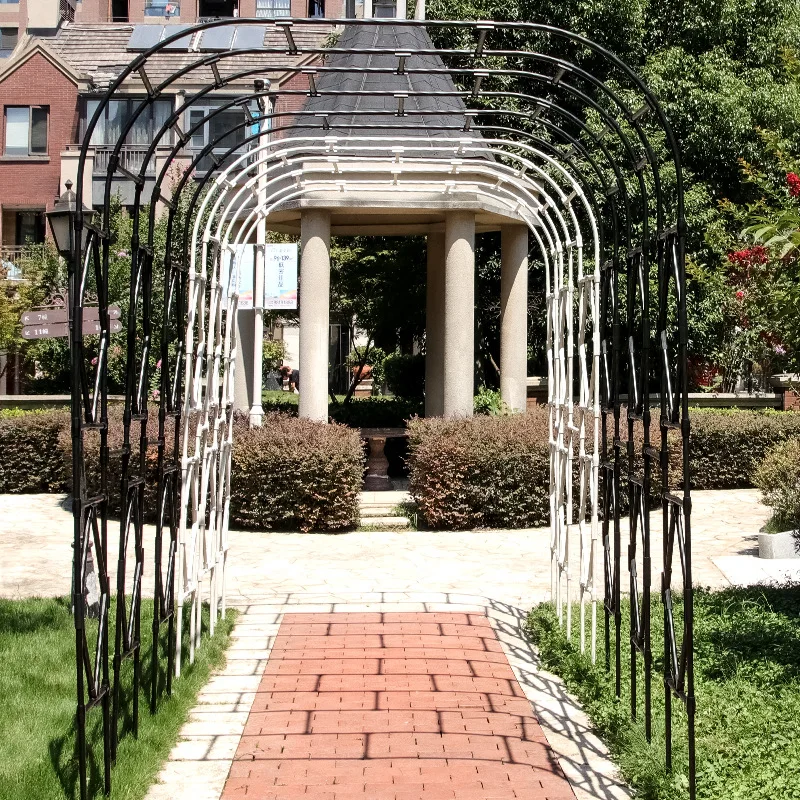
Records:
<instances>
[{"instance_id":1,"label":"black metal hoops of the arched tunnel, excluding the white ones","mask_svg":"<svg viewBox=\"0 0 800 800\"><path fill-rule=\"evenodd\" d=\"M343 22L343 21L342 21ZM168 166L172 159L189 142L192 133L205 126L209 120L235 106L248 109L250 103L260 98L277 99L282 96L315 94L347 96L353 94L391 95L391 92L316 92L312 82L308 91L281 89L270 87L265 91L237 90L237 94L228 102L221 104L203 119L183 131L180 120L184 113L196 106L204 98L213 96L215 92L230 92L231 84L262 74L261 68L248 69L234 74L222 76L220 65L230 56L252 54L278 54L296 57L337 56L337 55L399 55L390 48L345 48L332 47L298 47L292 36L292 26L296 23L304 25L329 25L324 19L308 20L246 20L234 22L217 20L203 23L168 37L163 42L133 59L131 64L112 83L111 87L98 105L92 117L81 147L81 155L77 180L77 212L73 221L73 244L70 259L70 311L71 311L71 357L72 357L72 442L73 442L73 509L74 509L74 545L75 545L75 585L83 585L85 554L90 537L94 539L100 573L102 608L99 634L95 646L94 659L88 645L85 625L85 608L83 595L76 592L75 626L77 650L77 689L78 689L78 740L79 767L81 780L81 796L87 797L87 748L85 740L85 715L93 706L101 705L104 714L104 778L105 789L110 789L110 764L116 755L118 736L118 715L121 704L121 665L126 658L133 660L134 679L132 691L133 732L136 734L138 719L138 692L141 681L140 668L140 604L141 576L145 570L145 546L143 538L143 522L145 516L145 489L152 478L147 475L147 448L152 443L148 439L148 360L154 326L161 331L160 357L162 369L160 373L160 394L158 401L158 463L157 463L157 497L156 536L153 547L153 566L155 569L155 614L153 621L153 680L150 686L150 704L153 712L157 709L159 697L159 681L162 671L160 665L164 658L160 646L161 628L167 625L166 643L166 675L165 690L171 691L173 672L172 657L175 650L175 553L177 548L177 507L180 496L180 421L182 416L182 368L187 357L183 352L181 335L186 315L187 258L190 245L191 217L187 217L182 231L175 230L177 211L184 193L192 180L193 169L209 154L213 154L219 145L233 131L247 128L253 124L252 114L243 110L247 117L236 126L226 130L209 142L199 151L191 162L189 170L173 187L172 196L162 194ZM265 47L252 50L237 50L230 53L215 53L203 56L193 63L185 65L174 72L158 86L153 86L148 75L148 61L164 48L198 31L223 27L230 24L271 26L282 30L286 37L285 47ZM510 150L514 142L527 142L541 148L565 166L573 179L580 184L584 195L593 209L598 222L599 247L602 263L598 265L601 274L601 338L603 355L601 358L602 387L602 453L600 493L603 511L602 536L604 548L605 579L605 644L606 663L611 663L611 631L615 639L615 674L617 693L621 690L621 549L622 537L620 518L624 511L630 514L630 531L628 545L628 565L631 575L631 713L637 714L637 653L641 653L645 674L645 727L648 739L651 731L651 676L652 653L650 649L650 522L649 503L653 495L653 471L658 476L658 496L662 509L664 529L664 571L662 574L662 600L664 608L665 652L664 675L666 697L666 760L672 767L672 734L671 734L671 699L679 698L687 710L689 730L689 785L690 796L695 796L695 754L694 754L694 678L693 678L693 614L692 614L692 578L691 578L691 537L689 496L689 414L688 383L686 371L687 331L685 300L685 235L684 192L681 176L680 150L673 131L655 96L648 90L636 72L619 58L602 46L581 35L561 30L553 26L539 23L495 23L468 21L418 21L418 20L347 20L347 26L401 26L408 28L424 27L435 32L445 28L463 29L474 34L475 46L472 49L437 49L423 48L411 52L414 56L435 56L442 60L441 68L411 68L409 74L445 74L451 78L471 78L473 88L455 90L453 92L411 91L409 96L451 97L461 100L474 99L483 101L489 107L469 109L421 110L406 111L398 114L393 111L377 112L365 110L362 114L351 110L342 112L351 120L359 116L368 118L365 124L348 123L348 129L364 131L391 128L402 130L398 116L413 118L414 116L459 117L464 124L448 126L445 124L428 125L438 131L452 131L454 136L459 132L477 131L498 134L508 138ZM637 110L622 99L619 92L608 83L585 70L577 63L566 58L553 56L543 52L513 51L490 49L487 44L497 31L529 31L544 34L567 42L569 45L591 51L612 67L630 84L636 93L643 98L643 105ZM482 59L492 59L493 64L505 61L507 64L541 63L552 67L553 75L545 75L517 66L508 69L496 67L481 69L479 67L463 67L458 62L470 59L479 64ZM448 65L447 60L457 63ZM213 82L208 82L192 97L177 108L161 127L154 138L142 163L138 174L127 172L120 165L120 153L128 132L132 129L138 116L153 101L168 91L181 77L208 69L212 72ZM352 72L353 68L337 65L319 64L313 68L314 73ZM361 68L360 71L385 74L402 74L388 68ZM270 73L293 74L309 71L307 66L296 63L270 65ZM90 148L90 140L94 128L108 102L116 95L126 79L138 74L143 82L147 97L135 109L112 151L106 175L103 214L100 225L87 224L82 212L83 177L85 162ZM538 96L525 92L492 91L481 86L482 81L492 78L515 78L530 85L541 85L548 96ZM566 80L575 77L588 88L575 86ZM595 99L589 91L596 91ZM565 96L566 105L552 99L554 94ZM230 95L226 95L229 97ZM506 101L512 101L519 107L507 107ZM496 107L499 105L499 107ZM619 118L610 109L616 109ZM579 115L594 113L605 126L598 132L587 124ZM660 168L647 131L642 125L645 115L655 117L661 134L665 137L669 162L674 166L676 174L675 207L666 208L666 198L661 185ZM335 117L331 112L329 117ZM309 117L316 117L317 124L309 124ZM383 120L385 117L385 121ZM494 120L501 124L494 124ZM287 130L307 129L312 133L323 134L328 130L329 120L319 121L319 114L313 112L259 112L259 122L269 119L270 122L281 121L273 125L271 133ZM473 120L478 122L473 125ZM486 120L486 122L483 122ZM519 127L514 123L519 122ZM487 124L489 123L489 124ZM537 127L538 126L538 127ZM638 155L628 129L635 134L635 141L643 150ZM409 125L408 127L412 127ZM167 163L162 168L150 195L148 218L146 224L146 241L141 241L139 230L141 212L143 211L143 194L145 194L145 175L155 157L156 149L164 137L173 132L175 143ZM220 165L223 165L235 153L251 143L257 142L261 132L245 137L244 142L229 147L220 161L208 170L202 179L197 181L191 192L188 207L194 209L199 198L207 190ZM617 146L621 148L625 158L618 160L612 149L606 144L611 135ZM530 155L530 154L529 154ZM546 164L546 162L544 162ZM543 166L544 166L543 164ZM613 178L609 177L610 174ZM135 184L134 195L134 229L131 243L131 281L129 294L129 313L127 320L127 370L126 370L126 402L123 416L124 444L121 453L122 480L119 487L108 485L108 448L109 418L107 409L107 348L109 344L108 319L108 271L109 249L109 215L112 200L112 179L123 176ZM559 180L556 175L553 179ZM563 176L561 176L563 178ZM631 192L629 180L632 179L635 191ZM648 186L648 182L652 187ZM167 246L163 264L156 265L154 248L154 228L156 202L163 202L168 208ZM544 213L547 211L545 209ZM582 213L582 212L581 212ZM651 227L651 216L655 226ZM666 220L671 220L667 227ZM84 230L86 229L86 230ZM88 234L85 236L85 234ZM651 315L650 274L651 265L655 265L658 284L657 312L655 319ZM160 271L164 284L164 306L160 320L152 315L152 288L155 270ZM84 292L90 275L93 276L97 288L100 306L100 351L98 363L91 374L86 364L82 338L82 308ZM676 341L677 338L677 341ZM658 358L651 363L651 350L655 349ZM650 384L656 377L660 403L659 436L660 446L651 439ZM627 382L627 392L623 393L622 384ZM627 395L627 396L625 396ZM623 429L623 422L627 423ZM138 423L138 437L135 436ZM96 430L99 435L99 452L101 471L96 485L86 474L84 468L85 432ZM671 431L680 434L681 459L683 463L683 485L674 487L670 482L670 444ZM641 432L643 445L637 445L636 434ZM138 442L138 453L135 444ZM134 454L136 457L134 458ZM625 474L623 475L623 470ZM623 489L624 486L624 489ZM107 578L107 524L109 498L119 491L122 506L120 537L118 551L117 580L117 617L115 623L115 651L113 683L109 676L108 653L108 602L110 589ZM680 493L679 493L680 490ZM626 502L622 502L624 496ZM164 543L167 541L166 557ZM134 581L132 596L125 596L125 579L127 569L127 550L132 541L135 552ZM675 631L672 596L672 562L675 544L681 554L681 578L683 591L683 633L678 636ZM641 585L637 575L637 555L639 547L643 551L643 576ZM112 704L113 698L113 704Z\"/></svg>"}]
</instances>

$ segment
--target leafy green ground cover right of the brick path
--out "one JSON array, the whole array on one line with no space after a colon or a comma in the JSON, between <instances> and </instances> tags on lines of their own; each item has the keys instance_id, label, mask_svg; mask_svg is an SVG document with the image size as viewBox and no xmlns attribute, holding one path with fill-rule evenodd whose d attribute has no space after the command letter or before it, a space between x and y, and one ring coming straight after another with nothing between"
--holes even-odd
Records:
<instances>
[{"instance_id":1,"label":"leafy green ground cover right of the brick path","mask_svg":"<svg viewBox=\"0 0 800 800\"><path fill-rule=\"evenodd\" d=\"M563 677L583 704L636 796L685 800L689 796L686 716L682 704L674 701L676 760L674 774L668 776L659 597L652 608L654 716L649 745L642 714L638 723L630 720L627 605L620 701L614 695L613 667L606 672L601 652L598 664L592 666L577 652L574 639L568 644L552 606L544 604L530 613L528 633L541 652L543 666ZM698 799L800 798L800 586L698 591L695 620ZM598 640L602 641L602 630ZM641 670L638 686L643 698Z\"/></svg>"}]
</instances>

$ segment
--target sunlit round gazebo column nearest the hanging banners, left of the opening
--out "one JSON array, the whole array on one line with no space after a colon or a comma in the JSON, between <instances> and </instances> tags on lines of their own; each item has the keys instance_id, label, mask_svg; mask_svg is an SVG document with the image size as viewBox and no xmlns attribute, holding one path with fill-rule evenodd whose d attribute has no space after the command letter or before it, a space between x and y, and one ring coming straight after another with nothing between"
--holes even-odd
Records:
<instances>
[{"instance_id":1,"label":"sunlit round gazebo column nearest the hanging banners, left of the opening","mask_svg":"<svg viewBox=\"0 0 800 800\"><path fill-rule=\"evenodd\" d=\"M300 416L327 422L330 211L303 211L300 240Z\"/></svg>"}]
</instances>

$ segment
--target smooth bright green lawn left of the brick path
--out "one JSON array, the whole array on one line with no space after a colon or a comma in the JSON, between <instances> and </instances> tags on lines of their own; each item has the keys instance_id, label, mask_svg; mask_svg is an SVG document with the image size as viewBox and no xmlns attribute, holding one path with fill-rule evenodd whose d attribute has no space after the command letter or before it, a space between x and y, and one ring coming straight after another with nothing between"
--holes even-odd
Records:
<instances>
[{"instance_id":1,"label":"smooth bright green lawn left of the brick path","mask_svg":"<svg viewBox=\"0 0 800 800\"><path fill-rule=\"evenodd\" d=\"M111 775L113 798L144 797L176 742L200 688L212 669L224 663L235 616L235 612L229 612L217 626L214 637L204 637L191 666L187 652L182 675L173 681L172 697L163 695L158 711L151 716L147 693L152 668L152 611L152 601L144 600L139 738L131 735L130 720L120 721L117 763ZM113 619L112 604L112 658ZM207 625L207 610L204 622ZM184 626L184 629L188 628ZM163 670L162 667L162 674ZM127 699L130 699L132 673L128 662L122 673ZM0 798L72 800L78 797L74 729L75 629L68 599L0 600L0 698ZM126 707L129 708L130 703ZM100 708L92 710L88 719L92 746L91 786L101 796Z\"/></svg>"}]
</instances>

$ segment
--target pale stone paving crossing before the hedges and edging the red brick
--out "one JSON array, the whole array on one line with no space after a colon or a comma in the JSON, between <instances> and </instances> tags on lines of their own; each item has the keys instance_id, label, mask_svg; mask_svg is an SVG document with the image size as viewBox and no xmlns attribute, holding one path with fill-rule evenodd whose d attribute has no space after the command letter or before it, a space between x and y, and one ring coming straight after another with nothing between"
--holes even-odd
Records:
<instances>
[{"instance_id":1,"label":"pale stone paving crossing before the hedges and edging the red brick","mask_svg":"<svg viewBox=\"0 0 800 800\"><path fill-rule=\"evenodd\" d=\"M754 555L756 534L769 516L756 491L696 492L693 497L697 583L724 587L800 577L800 560L767 563ZM0 496L0 596L69 592L72 519L63 500L54 495ZM657 517L652 530L657 575L661 552ZM109 534L113 542L117 524L109 526ZM151 541L152 535L148 528L146 540ZM491 623L530 704L530 718L538 720L552 759L577 800L630 797L588 719L561 681L541 669L524 635L527 611L549 594L548 531L339 535L232 531L230 540L229 602L241 616L227 664L201 692L147 800L220 800L229 774L232 779L244 778L236 776L243 767L236 766L232 772L232 764L251 708L264 695L259 687L265 667L285 661L286 648L272 651L276 642L285 643L280 628L287 615L423 612L480 615ZM578 551L572 547L577 563ZM600 553L597 556L601 592ZM115 564L112 556L112 581ZM152 591L147 569L144 591ZM290 616L292 628L293 619ZM355 645L348 642L347 646ZM362 718L362 727L367 722ZM309 800L324 797L314 787L300 788ZM228 790L233 791L232 784ZM431 792L425 800L435 798ZM459 790L458 796L468 798L469 794ZM536 795L527 796L538 800Z\"/></svg>"}]
</instances>

